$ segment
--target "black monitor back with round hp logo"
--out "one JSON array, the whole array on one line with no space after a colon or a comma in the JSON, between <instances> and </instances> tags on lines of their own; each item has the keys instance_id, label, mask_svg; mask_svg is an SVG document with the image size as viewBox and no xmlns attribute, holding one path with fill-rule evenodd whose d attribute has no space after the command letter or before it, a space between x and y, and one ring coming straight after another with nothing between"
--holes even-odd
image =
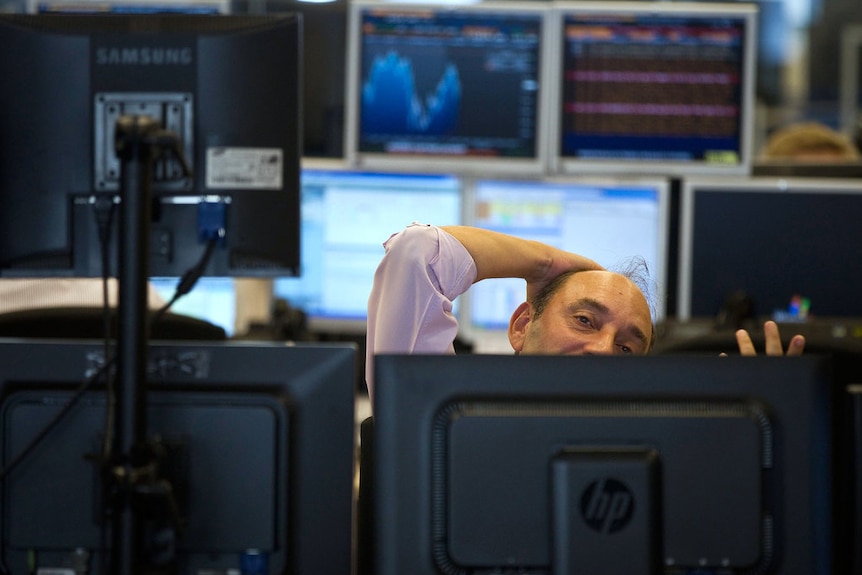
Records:
<instances>
[{"instance_id":1,"label":"black monitor back with round hp logo","mask_svg":"<svg viewBox=\"0 0 862 575\"><path fill-rule=\"evenodd\" d=\"M378 575L833 572L823 358L378 356L375 375Z\"/></svg>"}]
</instances>

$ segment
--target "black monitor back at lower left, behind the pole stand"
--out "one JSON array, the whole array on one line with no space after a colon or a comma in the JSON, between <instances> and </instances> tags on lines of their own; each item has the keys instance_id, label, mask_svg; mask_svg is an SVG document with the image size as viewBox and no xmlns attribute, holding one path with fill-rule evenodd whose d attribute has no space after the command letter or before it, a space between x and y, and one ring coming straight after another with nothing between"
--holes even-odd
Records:
<instances>
[{"instance_id":1,"label":"black monitor back at lower left, behind the pole stand","mask_svg":"<svg viewBox=\"0 0 862 575\"><path fill-rule=\"evenodd\" d=\"M156 493L138 508L155 526L142 535L150 566L170 559L165 572L226 574L266 561L260 572L350 573L355 346L162 342L148 357L147 438L162 440L158 475L184 526L158 515L168 505ZM0 342L0 467L103 359L98 342ZM4 475L4 572L107 572L99 383Z\"/></svg>"}]
</instances>

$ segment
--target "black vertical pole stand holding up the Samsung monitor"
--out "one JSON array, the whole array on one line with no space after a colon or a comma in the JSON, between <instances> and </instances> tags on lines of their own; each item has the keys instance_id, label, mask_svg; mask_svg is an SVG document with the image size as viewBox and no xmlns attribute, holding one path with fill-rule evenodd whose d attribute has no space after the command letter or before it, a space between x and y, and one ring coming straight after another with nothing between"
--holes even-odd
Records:
<instances>
[{"instance_id":1,"label":"black vertical pole stand holding up the Samsung monitor","mask_svg":"<svg viewBox=\"0 0 862 575\"><path fill-rule=\"evenodd\" d=\"M144 558L148 530L141 510L176 509L172 487L160 477L158 447L146 437L153 163L160 154L173 152L185 171L188 166L178 137L149 116L120 116L115 144L121 164L116 364L119 389L111 457L103 462L102 487L112 531L109 572L137 575L151 571ZM152 505L154 498L163 505Z\"/></svg>"}]
</instances>

